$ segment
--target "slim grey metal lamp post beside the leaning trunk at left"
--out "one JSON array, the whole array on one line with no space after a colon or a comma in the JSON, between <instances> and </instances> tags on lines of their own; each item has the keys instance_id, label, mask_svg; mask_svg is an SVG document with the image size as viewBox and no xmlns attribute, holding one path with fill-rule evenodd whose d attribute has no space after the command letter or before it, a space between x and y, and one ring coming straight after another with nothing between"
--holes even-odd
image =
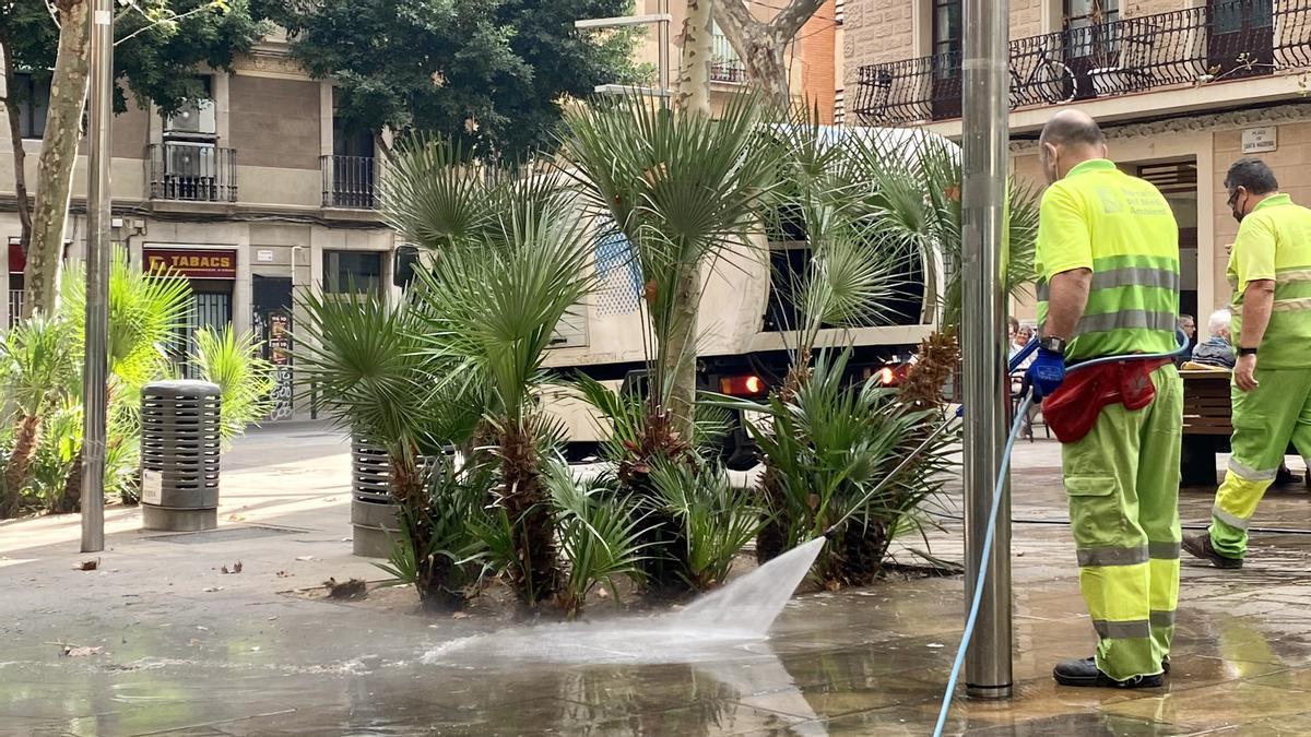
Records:
<instances>
[{"instance_id":1,"label":"slim grey metal lamp post beside the leaning trunk at left","mask_svg":"<svg viewBox=\"0 0 1311 737\"><path fill-rule=\"evenodd\" d=\"M87 355L83 366L83 552L105 549L105 412L109 374L110 122L114 115L111 0L90 13L90 143L87 193Z\"/></svg>"}]
</instances>

